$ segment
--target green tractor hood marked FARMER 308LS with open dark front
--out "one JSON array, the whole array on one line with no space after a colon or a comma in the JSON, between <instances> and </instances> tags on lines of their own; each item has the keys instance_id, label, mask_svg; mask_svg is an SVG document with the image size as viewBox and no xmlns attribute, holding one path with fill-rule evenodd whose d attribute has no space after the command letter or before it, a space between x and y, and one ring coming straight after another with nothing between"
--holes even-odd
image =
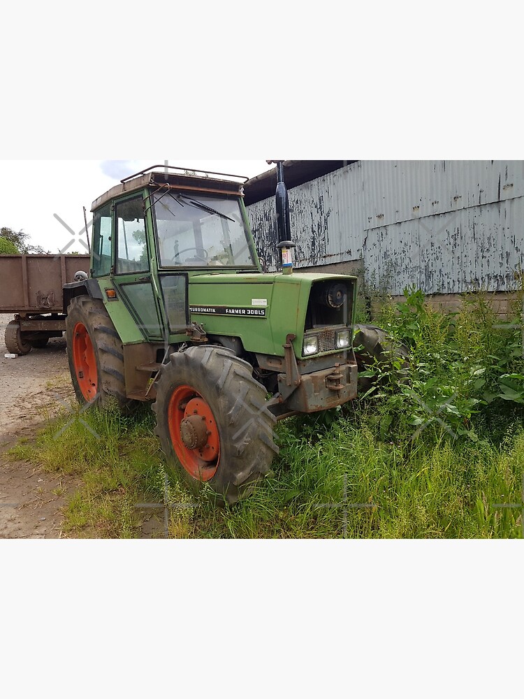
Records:
<instances>
[{"instance_id":1,"label":"green tractor hood marked FARMER 308LS with open dark front","mask_svg":"<svg viewBox=\"0 0 524 699\"><path fill-rule=\"evenodd\" d=\"M248 352L284 356L286 337L296 336L293 346L301 356L303 336L309 328L340 326L342 316L334 308L315 311L330 290L345 290L344 325L353 319L356 278L315 273L212 273L189 277L191 322L208 335L235 336ZM334 348L333 348L334 349Z\"/></svg>"}]
</instances>

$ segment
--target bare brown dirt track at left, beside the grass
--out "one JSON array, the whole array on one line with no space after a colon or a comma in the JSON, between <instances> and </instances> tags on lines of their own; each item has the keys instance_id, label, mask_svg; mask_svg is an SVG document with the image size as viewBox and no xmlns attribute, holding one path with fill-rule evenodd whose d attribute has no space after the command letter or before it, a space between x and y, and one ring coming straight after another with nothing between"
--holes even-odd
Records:
<instances>
[{"instance_id":1,"label":"bare brown dirt track at left, beside the grass","mask_svg":"<svg viewBox=\"0 0 524 699\"><path fill-rule=\"evenodd\" d=\"M0 315L0 539L61 538L60 508L74 479L3 454L73 398L66 342L54 338L45 349L6 359L3 334L12 319Z\"/></svg>"}]
</instances>

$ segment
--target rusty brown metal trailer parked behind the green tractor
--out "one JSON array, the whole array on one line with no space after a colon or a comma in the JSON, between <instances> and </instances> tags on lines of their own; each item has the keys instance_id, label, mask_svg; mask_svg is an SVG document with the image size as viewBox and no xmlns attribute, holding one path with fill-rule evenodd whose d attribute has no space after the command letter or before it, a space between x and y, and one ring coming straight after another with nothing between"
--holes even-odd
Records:
<instances>
[{"instance_id":1,"label":"rusty brown metal trailer parked behind the green tractor","mask_svg":"<svg viewBox=\"0 0 524 699\"><path fill-rule=\"evenodd\" d=\"M6 347L27 354L66 329L64 284L89 275L89 255L0 255L0 313L13 313ZM83 277L83 275L80 275Z\"/></svg>"}]
</instances>

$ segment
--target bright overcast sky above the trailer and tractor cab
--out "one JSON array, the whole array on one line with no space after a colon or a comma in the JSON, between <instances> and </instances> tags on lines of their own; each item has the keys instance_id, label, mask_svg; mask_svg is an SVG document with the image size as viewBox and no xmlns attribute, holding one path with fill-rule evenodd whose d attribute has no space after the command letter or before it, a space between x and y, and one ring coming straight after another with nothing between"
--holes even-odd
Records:
<instances>
[{"instance_id":1,"label":"bright overcast sky above the trailer and tractor cab","mask_svg":"<svg viewBox=\"0 0 524 699\"><path fill-rule=\"evenodd\" d=\"M157 160L0 160L0 226L22 229L33 245L58 252L71 243L71 233L54 217L58 215L75 231L66 252L87 252L78 233L84 227L82 206L91 221L94 199ZM170 165L254 177L274 166L265 160L183 160ZM89 231L90 233L90 231Z\"/></svg>"}]
</instances>

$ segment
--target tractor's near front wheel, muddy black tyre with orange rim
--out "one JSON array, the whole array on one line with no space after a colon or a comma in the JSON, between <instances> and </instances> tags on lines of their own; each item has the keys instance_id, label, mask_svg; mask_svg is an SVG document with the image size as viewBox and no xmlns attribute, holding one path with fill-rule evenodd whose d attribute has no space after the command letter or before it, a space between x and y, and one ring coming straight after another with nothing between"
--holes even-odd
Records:
<instances>
[{"instance_id":1,"label":"tractor's near front wheel, muddy black tyre with orange rim","mask_svg":"<svg viewBox=\"0 0 524 699\"><path fill-rule=\"evenodd\" d=\"M162 366L155 432L195 493L207 484L217 503L232 505L267 475L279 449L265 395L252 367L222 347L189 347Z\"/></svg>"}]
</instances>

